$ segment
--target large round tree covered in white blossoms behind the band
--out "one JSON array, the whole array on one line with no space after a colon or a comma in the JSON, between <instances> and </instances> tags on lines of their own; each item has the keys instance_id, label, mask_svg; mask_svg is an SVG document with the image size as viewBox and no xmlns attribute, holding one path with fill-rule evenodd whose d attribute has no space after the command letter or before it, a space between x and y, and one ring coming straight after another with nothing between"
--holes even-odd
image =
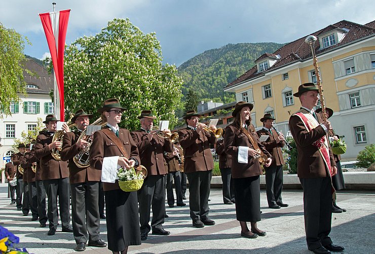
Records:
<instances>
[{"instance_id":1,"label":"large round tree covered in white blossoms behind the band","mask_svg":"<svg viewBox=\"0 0 375 254\"><path fill-rule=\"evenodd\" d=\"M174 65L162 64L155 33L144 34L129 19L114 19L100 33L79 38L65 50L65 105L68 112L97 109L108 98L126 108L121 127L139 128L137 117L151 110L159 120L177 119L182 80Z\"/></svg>"}]
</instances>

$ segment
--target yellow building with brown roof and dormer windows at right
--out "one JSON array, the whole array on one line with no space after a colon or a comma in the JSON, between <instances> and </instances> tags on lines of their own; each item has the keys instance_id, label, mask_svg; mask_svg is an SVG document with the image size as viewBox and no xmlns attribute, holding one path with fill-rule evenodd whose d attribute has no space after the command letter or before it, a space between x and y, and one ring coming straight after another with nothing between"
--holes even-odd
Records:
<instances>
[{"instance_id":1,"label":"yellow building with brown roof and dormer windows at right","mask_svg":"<svg viewBox=\"0 0 375 254\"><path fill-rule=\"evenodd\" d=\"M329 120L348 144L342 158L355 160L375 141L375 21L361 25L343 20L312 35L318 39L314 49L325 105L334 112ZM224 87L236 93L237 101L254 104L251 118L257 129L262 127L259 119L270 113L276 128L286 134L289 116L301 105L293 93L300 84L316 83L306 37L261 55L253 68Z\"/></svg>"}]
</instances>

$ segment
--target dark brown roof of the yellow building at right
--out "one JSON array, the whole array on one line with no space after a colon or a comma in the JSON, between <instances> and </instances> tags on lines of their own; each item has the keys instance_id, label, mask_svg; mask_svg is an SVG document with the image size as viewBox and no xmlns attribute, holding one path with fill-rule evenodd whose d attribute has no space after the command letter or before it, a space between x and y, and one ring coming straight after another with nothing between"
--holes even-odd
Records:
<instances>
[{"instance_id":1,"label":"dark brown roof of the yellow building at right","mask_svg":"<svg viewBox=\"0 0 375 254\"><path fill-rule=\"evenodd\" d=\"M327 48L319 49L320 43L319 43L319 40L317 40L314 45L315 53L317 55L320 55L324 52L330 51L337 47L351 44L353 42L359 41L366 37L375 35L375 21L371 21L365 25L360 25L360 24L353 23L347 20L342 20L333 25L328 25L327 27L316 31L312 33L311 35L315 35L316 37L319 37L319 35L327 33L337 28L348 29L349 31L346 33L345 37L341 40L341 42L336 43ZM235 86L247 80L252 80L257 77L264 76L267 72L275 70L287 64L291 64L297 61L302 62L308 58L311 58L312 57L311 48L307 43L305 43L305 39L307 36L308 35L306 35L303 38L299 38L295 40L294 42L284 45L280 49L276 50L273 54L265 53L261 55L256 61L258 61L259 59L262 59L262 57L266 58L267 55L274 55L274 56L280 55L280 59L278 59L276 63L272 65L270 68L262 72L258 72L257 65L255 65L254 67L246 71L243 75L238 77L235 81L233 81L232 83L224 87L224 89L230 88L232 86Z\"/></svg>"}]
</instances>

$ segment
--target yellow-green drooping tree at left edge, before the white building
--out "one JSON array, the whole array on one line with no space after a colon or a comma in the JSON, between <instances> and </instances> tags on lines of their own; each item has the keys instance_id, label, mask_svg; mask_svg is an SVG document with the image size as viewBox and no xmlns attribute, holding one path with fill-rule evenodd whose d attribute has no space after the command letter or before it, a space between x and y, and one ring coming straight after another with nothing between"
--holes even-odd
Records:
<instances>
[{"instance_id":1,"label":"yellow-green drooping tree at left edge, before the white building","mask_svg":"<svg viewBox=\"0 0 375 254\"><path fill-rule=\"evenodd\" d=\"M20 102L19 94L26 95L23 81L23 54L25 41L14 29L0 23L0 117L11 115L11 102ZM30 44L30 43L29 43Z\"/></svg>"}]
</instances>

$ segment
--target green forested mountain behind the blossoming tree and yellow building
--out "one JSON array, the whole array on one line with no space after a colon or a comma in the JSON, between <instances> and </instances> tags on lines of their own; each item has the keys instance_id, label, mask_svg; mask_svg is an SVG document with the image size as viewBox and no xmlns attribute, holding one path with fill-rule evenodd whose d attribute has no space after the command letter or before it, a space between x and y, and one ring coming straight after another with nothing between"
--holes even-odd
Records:
<instances>
[{"instance_id":1,"label":"green forested mountain behind the blossoming tree and yellow building","mask_svg":"<svg viewBox=\"0 0 375 254\"><path fill-rule=\"evenodd\" d=\"M244 74L254 61L264 53L273 53L284 44L239 43L228 44L219 49L211 49L182 63L178 75L183 79L182 94L189 89L197 91L201 99L229 103L235 100L233 93L223 92L223 87ZM215 99L217 98L217 99Z\"/></svg>"}]
</instances>

